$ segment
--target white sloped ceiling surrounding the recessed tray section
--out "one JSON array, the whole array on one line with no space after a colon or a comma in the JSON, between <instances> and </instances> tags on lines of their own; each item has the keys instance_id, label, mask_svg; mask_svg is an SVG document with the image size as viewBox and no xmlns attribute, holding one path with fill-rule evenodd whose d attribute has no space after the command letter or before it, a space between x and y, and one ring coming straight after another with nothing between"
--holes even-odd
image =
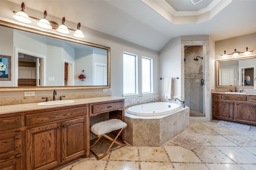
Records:
<instances>
[{"instance_id":1,"label":"white sloped ceiling surrounding the recessed tray section","mask_svg":"<svg viewBox=\"0 0 256 170\"><path fill-rule=\"evenodd\" d=\"M12 1L18 4L24 2L26 8L42 13L47 10L48 16L59 18L65 16L68 21L81 22L85 27L156 51L160 51L172 38L182 35L210 35L214 41L218 41L256 32L256 0L232 0L232 2L230 0L229 4L221 8L222 10L216 12L216 8L220 8L217 4L215 14L212 15L214 11L210 11L209 20L190 24L173 24L168 20L170 13L167 10L146 5L164 0ZM166 0L166 2L176 11L197 11L209 6L212 0L203 0L195 6L190 0ZM25 11L28 13L26 9Z\"/></svg>"}]
</instances>

